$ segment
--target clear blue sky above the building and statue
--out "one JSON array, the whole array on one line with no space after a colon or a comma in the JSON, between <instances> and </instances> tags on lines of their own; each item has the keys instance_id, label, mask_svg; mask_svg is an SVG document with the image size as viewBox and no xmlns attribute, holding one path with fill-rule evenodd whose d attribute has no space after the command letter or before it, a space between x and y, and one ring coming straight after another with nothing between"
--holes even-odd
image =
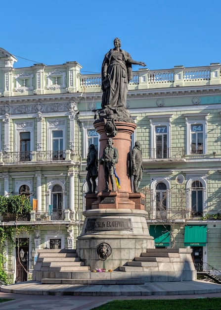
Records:
<instances>
[{"instance_id":1,"label":"clear blue sky above the building and statue","mask_svg":"<svg viewBox=\"0 0 221 310\"><path fill-rule=\"evenodd\" d=\"M0 47L16 56L16 68L78 61L82 73L100 72L115 37L151 70L221 62L221 0L10 0L0 7Z\"/></svg>"}]
</instances>

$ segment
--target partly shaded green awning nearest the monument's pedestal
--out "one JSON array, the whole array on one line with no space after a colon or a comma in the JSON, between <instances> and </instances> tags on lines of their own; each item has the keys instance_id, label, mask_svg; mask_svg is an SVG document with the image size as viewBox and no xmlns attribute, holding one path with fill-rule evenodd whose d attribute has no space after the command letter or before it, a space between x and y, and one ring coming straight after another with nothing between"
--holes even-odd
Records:
<instances>
[{"instance_id":1,"label":"partly shaded green awning nearest the monument's pedestal","mask_svg":"<svg viewBox=\"0 0 221 310\"><path fill-rule=\"evenodd\" d=\"M155 247L170 246L170 225L150 225L150 236L154 237Z\"/></svg>"}]
</instances>

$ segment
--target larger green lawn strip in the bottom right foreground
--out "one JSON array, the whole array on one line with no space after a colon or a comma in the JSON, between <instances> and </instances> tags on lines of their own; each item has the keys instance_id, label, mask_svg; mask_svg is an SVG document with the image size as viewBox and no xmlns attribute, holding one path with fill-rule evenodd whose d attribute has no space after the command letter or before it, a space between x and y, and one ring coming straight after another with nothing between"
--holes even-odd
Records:
<instances>
[{"instance_id":1,"label":"larger green lawn strip in the bottom right foreground","mask_svg":"<svg viewBox=\"0 0 221 310\"><path fill-rule=\"evenodd\" d=\"M221 298L115 300L93 310L219 310Z\"/></svg>"}]
</instances>

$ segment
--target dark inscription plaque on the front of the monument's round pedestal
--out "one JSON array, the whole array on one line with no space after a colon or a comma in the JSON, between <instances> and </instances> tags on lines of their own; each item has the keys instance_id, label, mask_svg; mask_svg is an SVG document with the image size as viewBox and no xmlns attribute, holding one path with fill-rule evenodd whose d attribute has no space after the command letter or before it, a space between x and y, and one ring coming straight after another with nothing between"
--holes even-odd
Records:
<instances>
[{"instance_id":1,"label":"dark inscription plaque on the front of the monument's round pedestal","mask_svg":"<svg viewBox=\"0 0 221 310\"><path fill-rule=\"evenodd\" d=\"M130 218L90 218L87 230L133 230Z\"/></svg>"}]
</instances>

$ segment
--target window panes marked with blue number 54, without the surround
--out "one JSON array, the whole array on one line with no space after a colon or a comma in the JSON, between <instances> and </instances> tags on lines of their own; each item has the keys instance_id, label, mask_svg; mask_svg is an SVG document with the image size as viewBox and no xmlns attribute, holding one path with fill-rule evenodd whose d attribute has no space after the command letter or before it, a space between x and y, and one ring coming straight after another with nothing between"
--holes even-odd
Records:
<instances>
[{"instance_id":1,"label":"window panes marked with blue number 54, without the surround","mask_svg":"<svg viewBox=\"0 0 221 310\"><path fill-rule=\"evenodd\" d=\"M203 124L191 125L191 154L203 154Z\"/></svg>"}]
</instances>

